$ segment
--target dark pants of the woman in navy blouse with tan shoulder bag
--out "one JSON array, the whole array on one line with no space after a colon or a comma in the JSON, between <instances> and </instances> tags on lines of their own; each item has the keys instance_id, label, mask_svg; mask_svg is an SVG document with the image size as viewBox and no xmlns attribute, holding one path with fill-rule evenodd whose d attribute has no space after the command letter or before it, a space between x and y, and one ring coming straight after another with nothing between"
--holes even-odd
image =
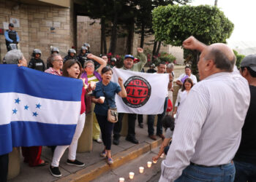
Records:
<instances>
[{"instance_id":1,"label":"dark pants of the woman in navy blouse with tan shoulder bag","mask_svg":"<svg viewBox=\"0 0 256 182\"><path fill-rule=\"evenodd\" d=\"M97 120L99 122L99 127L102 132L102 141L106 150L111 149L111 135L113 132L114 123L108 122L108 116L101 116L96 114Z\"/></svg>"}]
</instances>

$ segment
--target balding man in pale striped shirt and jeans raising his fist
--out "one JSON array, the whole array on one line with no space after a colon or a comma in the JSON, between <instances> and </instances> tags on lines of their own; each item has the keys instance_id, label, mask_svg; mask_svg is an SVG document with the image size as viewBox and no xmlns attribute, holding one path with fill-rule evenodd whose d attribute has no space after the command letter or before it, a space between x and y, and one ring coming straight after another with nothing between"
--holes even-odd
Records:
<instances>
[{"instance_id":1,"label":"balding man in pale striped shirt and jeans raising his fist","mask_svg":"<svg viewBox=\"0 0 256 182\"><path fill-rule=\"evenodd\" d=\"M183 46L201 52L202 81L192 87L176 118L159 181L233 181L232 159L249 107L248 82L233 71L236 56L227 45L206 46L191 36Z\"/></svg>"}]
</instances>

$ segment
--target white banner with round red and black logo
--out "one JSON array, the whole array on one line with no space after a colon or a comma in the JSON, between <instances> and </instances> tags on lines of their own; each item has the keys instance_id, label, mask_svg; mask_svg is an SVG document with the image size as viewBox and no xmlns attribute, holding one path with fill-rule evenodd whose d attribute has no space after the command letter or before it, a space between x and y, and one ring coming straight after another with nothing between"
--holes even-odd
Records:
<instances>
[{"instance_id":1,"label":"white banner with round red and black logo","mask_svg":"<svg viewBox=\"0 0 256 182\"><path fill-rule=\"evenodd\" d=\"M119 113L162 114L168 94L168 74L146 74L113 68L112 81L118 83L118 77L123 79L127 90L127 98L116 95Z\"/></svg>"}]
</instances>

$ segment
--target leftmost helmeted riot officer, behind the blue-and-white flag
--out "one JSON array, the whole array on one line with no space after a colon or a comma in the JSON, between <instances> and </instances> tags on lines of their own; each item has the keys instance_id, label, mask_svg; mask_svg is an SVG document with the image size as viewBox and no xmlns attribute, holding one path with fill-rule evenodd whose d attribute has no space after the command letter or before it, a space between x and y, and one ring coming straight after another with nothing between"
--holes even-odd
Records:
<instances>
[{"instance_id":1,"label":"leftmost helmeted riot officer, behind the blue-and-white flag","mask_svg":"<svg viewBox=\"0 0 256 182\"><path fill-rule=\"evenodd\" d=\"M29 61L29 68L36 69L38 71L45 71L45 63L41 60L41 50L34 49L32 53L32 58Z\"/></svg>"}]
</instances>

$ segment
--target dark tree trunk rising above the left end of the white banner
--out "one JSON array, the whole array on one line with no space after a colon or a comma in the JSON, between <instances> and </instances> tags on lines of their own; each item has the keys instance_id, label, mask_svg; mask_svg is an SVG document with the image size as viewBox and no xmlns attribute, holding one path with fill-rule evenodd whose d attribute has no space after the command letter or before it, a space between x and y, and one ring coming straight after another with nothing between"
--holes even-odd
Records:
<instances>
[{"instance_id":1,"label":"dark tree trunk rising above the left end of the white banner","mask_svg":"<svg viewBox=\"0 0 256 182\"><path fill-rule=\"evenodd\" d=\"M108 52L112 52L112 55L114 55L115 52L116 52L116 39L117 39L117 32L116 32L116 29L117 29L117 12L116 12L116 3L115 2L114 2L114 5L113 5L113 12L114 12L114 16L113 16L113 20L112 20L113 26L112 26L112 29L111 29L110 47L109 47L109 50L108 50Z\"/></svg>"}]
</instances>

